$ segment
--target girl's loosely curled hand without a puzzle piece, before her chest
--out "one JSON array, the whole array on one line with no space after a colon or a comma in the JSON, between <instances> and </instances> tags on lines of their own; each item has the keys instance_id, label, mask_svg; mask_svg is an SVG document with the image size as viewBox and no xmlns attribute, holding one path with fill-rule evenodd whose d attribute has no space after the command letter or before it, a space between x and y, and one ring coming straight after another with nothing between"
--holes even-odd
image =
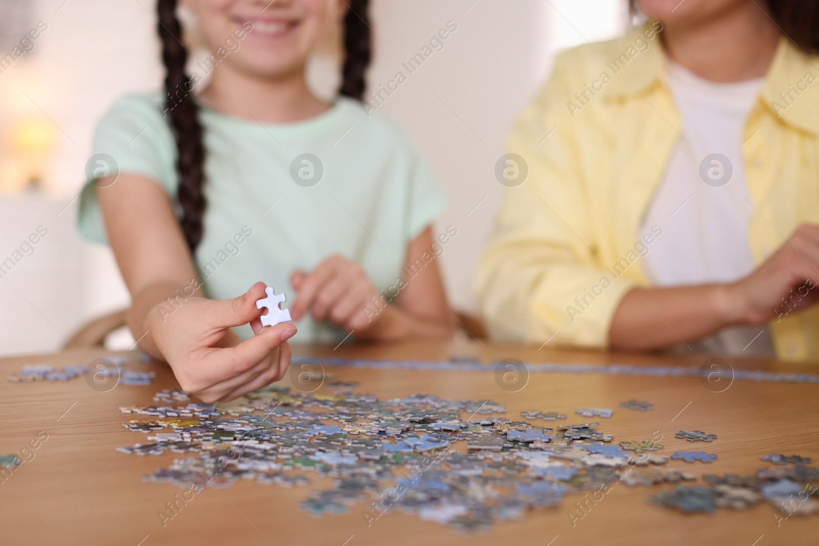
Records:
<instances>
[{"instance_id":1,"label":"girl's loosely curled hand without a puzzle piece, before her chest","mask_svg":"<svg viewBox=\"0 0 819 546\"><path fill-rule=\"evenodd\" d=\"M298 291L290 308L293 320L303 317L311 309L315 320L328 320L360 335L387 314L386 309L382 314L373 305L373 298L379 306L385 304L364 269L340 255L325 259L310 273L296 271L290 284Z\"/></svg>"}]
</instances>

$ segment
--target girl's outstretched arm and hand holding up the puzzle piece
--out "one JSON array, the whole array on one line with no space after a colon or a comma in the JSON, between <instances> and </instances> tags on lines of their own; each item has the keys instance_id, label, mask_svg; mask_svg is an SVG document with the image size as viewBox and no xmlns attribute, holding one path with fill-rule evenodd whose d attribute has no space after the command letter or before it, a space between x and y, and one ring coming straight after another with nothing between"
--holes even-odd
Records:
<instances>
[{"instance_id":1,"label":"girl's outstretched arm and hand holding up the puzzle piece","mask_svg":"<svg viewBox=\"0 0 819 546\"><path fill-rule=\"evenodd\" d=\"M262 327L257 282L233 300L207 300L165 191L149 178L120 174L98 183L111 248L133 298L128 323L140 347L165 359L179 385L206 402L235 399L283 377L286 341L296 327ZM170 298L170 300L169 300ZM241 341L232 327L251 323Z\"/></svg>"}]
</instances>

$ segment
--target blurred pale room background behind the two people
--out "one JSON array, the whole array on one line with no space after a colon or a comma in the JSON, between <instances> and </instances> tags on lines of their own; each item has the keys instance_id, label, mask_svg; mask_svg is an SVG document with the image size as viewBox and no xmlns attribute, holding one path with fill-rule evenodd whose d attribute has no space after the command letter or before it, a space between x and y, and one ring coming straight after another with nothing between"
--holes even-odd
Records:
<instances>
[{"instance_id":1,"label":"blurred pale room background behind the two people","mask_svg":"<svg viewBox=\"0 0 819 546\"><path fill-rule=\"evenodd\" d=\"M129 305L111 250L76 232L76 196L99 117L123 93L161 85L155 9L153 0L0 0L2 355L57 350L89 319ZM451 224L458 236L441 265L451 304L473 312L473 265L500 198L494 166L505 134L555 52L622 34L627 1L373 0L370 15L369 89L447 21L458 25L378 113L409 131L446 192L436 231ZM34 28L38 38L21 43ZM337 62L326 52L311 67L324 96ZM48 234L21 250L40 226ZM122 329L106 344L128 349L133 338Z\"/></svg>"}]
</instances>

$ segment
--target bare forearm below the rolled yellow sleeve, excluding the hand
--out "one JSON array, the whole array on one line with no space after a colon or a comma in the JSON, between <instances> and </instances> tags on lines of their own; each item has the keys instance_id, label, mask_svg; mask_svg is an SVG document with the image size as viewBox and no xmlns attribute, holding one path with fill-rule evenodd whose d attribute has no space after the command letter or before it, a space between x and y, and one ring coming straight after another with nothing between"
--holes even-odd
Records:
<instances>
[{"instance_id":1,"label":"bare forearm below the rolled yellow sleeve, excluding the hand","mask_svg":"<svg viewBox=\"0 0 819 546\"><path fill-rule=\"evenodd\" d=\"M729 284L636 288L623 297L609 330L613 349L664 349L745 323Z\"/></svg>"}]
</instances>

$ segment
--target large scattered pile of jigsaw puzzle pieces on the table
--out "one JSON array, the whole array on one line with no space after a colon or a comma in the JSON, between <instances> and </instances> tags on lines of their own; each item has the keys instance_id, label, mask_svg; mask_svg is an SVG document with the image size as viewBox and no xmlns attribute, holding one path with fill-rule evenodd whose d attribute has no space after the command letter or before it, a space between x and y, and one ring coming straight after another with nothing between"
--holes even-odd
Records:
<instances>
[{"instance_id":1,"label":"large scattered pile of jigsaw puzzle pieces on the table","mask_svg":"<svg viewBox=\"0 0 819 546\"><path fill-rule=\"evenodd\" d=\"M717 455L663 455L663 445L650 440L615 444L613 435L595 428L597 422L562 424L563 413L523 413L556 421L548 428L497 416L506 408L491 400L432 395L379 400L355 392L355 386L330 383L332 393L325 394L271 386L233 406L191 402L181 390L164 390L154 399L157 405L120 408L143 416L123 426L146 434L146 441L119 450L182 453L183 458L145 480L186 488L222 487L242 479L305 486L310 484L308 472L332 476L333 486L310 491L302 508L322 516L361 503L368 521L397 510L455 530L491 528L559 505L566 495L616 481L628 486L677 484L650 500L686 512L747 508L762 499L785 510L789 495L819 478L819 469L806 466L810 459L772 454L774 466L760 469L757 476L707 475L704 485L681 485L696 476L663 466L670 459L693 467ZM650 404L630 400L623 407L645 411ZM592 412L597 415L611 411L591 409L602 410ZM679 435L709 445L717 437L700 431ZM813 513L813 504L800 506L799 513Z\"/></svg>"}]
</instances>

